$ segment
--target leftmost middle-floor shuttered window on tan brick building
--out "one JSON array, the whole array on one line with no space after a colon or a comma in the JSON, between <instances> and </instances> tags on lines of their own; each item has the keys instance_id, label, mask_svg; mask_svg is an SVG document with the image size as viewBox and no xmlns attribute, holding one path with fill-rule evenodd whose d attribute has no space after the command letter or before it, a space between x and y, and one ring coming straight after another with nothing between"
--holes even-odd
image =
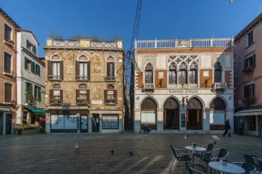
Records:
<instances>
[{"instance_id":1,"label":"leftmost middle-floor shuttered window on tan brick building","mask_svg":"<svg viewBox=\"0 0 262 174\"><path fill-rule=\"evenodd\" d=\"M52 89L50 89L50 104L51 105L61 105L63 102L63 90L59 84L55 84Z\"/></svg>"}]
</instances>

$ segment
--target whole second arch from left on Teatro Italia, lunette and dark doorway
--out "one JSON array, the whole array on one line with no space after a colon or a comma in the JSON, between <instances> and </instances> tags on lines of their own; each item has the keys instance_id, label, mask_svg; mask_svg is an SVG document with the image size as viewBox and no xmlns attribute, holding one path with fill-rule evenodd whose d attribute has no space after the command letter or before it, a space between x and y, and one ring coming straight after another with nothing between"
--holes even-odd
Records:
<instances>
[{"instance_id":1,"label":"whole second arch from left on Teatro Italia, lunette and dark doorway","mask_svg":"<svg viewBox=\"0 0 262 174\"><path fill-rule=\"evenodd\" d=\"M163 129L179 130L179 102L170 97L163 109Z\"/></svg>"}]
</instances>

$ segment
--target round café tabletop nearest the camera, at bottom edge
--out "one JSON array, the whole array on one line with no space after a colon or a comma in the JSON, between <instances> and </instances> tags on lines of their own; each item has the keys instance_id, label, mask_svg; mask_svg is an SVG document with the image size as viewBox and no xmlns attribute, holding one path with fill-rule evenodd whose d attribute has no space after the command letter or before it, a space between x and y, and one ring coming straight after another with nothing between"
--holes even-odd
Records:
<instances>
[{"instance_id":1,"label":"round caf\u00e9 tabletop nearest the camera, at bottom edge","mask_svg":"<svg viewBox=\"0 0 262 174\"><path fill-rule=\"evenodd\" d=\"M227 163L226 166L223 166L220 162L209 162L208 166L214 168L214 170L216 171L220 171L221 173L235 173L235 174L245 173L244 168L230 163Z\"/></svg>"}]
</instances>

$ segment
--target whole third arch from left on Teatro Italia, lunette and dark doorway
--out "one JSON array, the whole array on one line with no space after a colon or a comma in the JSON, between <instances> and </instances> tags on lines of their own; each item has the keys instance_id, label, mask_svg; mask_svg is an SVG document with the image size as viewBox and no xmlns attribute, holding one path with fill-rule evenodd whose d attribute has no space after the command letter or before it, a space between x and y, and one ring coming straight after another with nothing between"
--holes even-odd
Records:
<instances>
[{"instance_id":1,"label":"whole third arch from left on Teatro Italia, lunette and dark doorway","mask_svg":"<svg viewBox=\"0 0 262 174\"><path fill-rule=\"evenodd\" d=\"M202 130L203 124L203 106L198 98L191 98L187 105L187 129Z\"/></svg>"}]
</instances>

